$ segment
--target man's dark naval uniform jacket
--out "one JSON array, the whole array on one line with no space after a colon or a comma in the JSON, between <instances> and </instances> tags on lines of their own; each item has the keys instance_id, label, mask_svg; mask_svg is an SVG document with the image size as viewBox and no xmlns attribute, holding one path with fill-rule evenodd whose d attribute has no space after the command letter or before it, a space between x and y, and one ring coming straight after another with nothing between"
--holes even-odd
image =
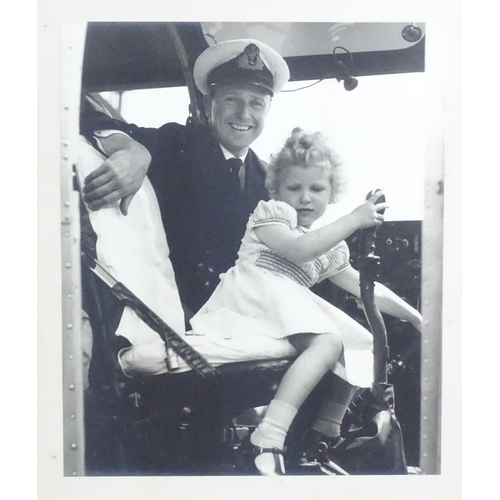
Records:
<instances>
[{"instance_id":1,"label":"man's dark naval uniform jacket","mask_svg":"<svg viewBox=\"0 0 500 500\"><path fill-rule=\"evenodd\" d=\"M259 200L268 199L262 162L249 150L241 192L205 127L167 123L140 128L101 115L87 120L82 133L89 137L92 129L122 130L150 151L148 177L160 204L180 297L198 311L219 275L234 265L250 214Z\"/></svg>"}]
</instances>

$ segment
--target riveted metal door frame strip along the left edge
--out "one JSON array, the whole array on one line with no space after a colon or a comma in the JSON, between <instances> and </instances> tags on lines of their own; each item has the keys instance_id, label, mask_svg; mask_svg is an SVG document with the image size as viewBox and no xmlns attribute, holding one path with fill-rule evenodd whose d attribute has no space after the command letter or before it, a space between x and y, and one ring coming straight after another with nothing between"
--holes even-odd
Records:
<instances>
[{"instance_id":1,"label":"riveted metal door frame strip along the left edge","mask_svg":"<svg viewBox=\"0 0 500 500\"><path fill-rule=\"evenodd\" d=\"M63 334L64 475L84 476L84 378L80 275L79 195L73 165L79 134L80 87L85 25L61 31L61 255Z\"/></svg>"}]
</instances>

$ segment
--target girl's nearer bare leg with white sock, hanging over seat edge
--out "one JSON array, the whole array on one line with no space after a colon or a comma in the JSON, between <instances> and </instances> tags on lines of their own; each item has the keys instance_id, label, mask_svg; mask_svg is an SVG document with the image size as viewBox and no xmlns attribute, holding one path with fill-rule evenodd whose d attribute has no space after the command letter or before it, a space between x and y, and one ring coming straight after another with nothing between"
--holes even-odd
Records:
<instances>
[{"instance_id":1,"label":"girl's nearer bare leg with white sock, hanging over seat edge","mask_svg":"<svg viewBox=\"0 0 500 500\"><path fill-rule=\"evenodd\" d=\"M301 354L285 373L261 424L251 435L260 448L283 449L288 429L307 396L337 363L342 341L336 334L298 334L289 340ZM261 471L274 467L274 457L263 453L255 460Z\"/></svg>"}]
</instances>

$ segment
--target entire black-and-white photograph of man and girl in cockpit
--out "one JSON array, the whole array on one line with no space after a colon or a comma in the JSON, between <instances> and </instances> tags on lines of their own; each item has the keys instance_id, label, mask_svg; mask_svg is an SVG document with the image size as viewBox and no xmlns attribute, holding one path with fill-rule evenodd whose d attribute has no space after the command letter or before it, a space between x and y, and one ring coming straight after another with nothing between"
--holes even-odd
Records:
<instances>
[{"instance_id":1,"label":"entire black-and-white photograph of man and girl in cockpit","mask_svg":"<svg viewBox=\"0 0 500 500\"><path fill-rule=\"evenodd\" d=\"M447 456L440 25L226 17L58 26L67 498L415 493Z\"/></svg>"}]
</instances>

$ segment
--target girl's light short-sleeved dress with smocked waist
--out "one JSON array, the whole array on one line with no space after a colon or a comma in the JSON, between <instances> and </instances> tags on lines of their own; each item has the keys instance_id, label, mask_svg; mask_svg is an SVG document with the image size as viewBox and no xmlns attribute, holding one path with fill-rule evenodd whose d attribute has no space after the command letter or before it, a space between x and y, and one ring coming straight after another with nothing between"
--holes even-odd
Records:
<instances>
[{"instance_id":1,"label":"girl's light short-sleeved dress with smocked waist","mask_svg":"<svg viewBox=\"0 0 500 500\"><path fill-rule=\"evenodd\" d=\"M264 245L255 228L297 226L297 212L287 203L261 201L250 216L238 260L221 275L212 297L192 318L196 335L226 339L260 335L283 338L297 333L337 333L344 346L334 373L349 383L368 387L373 381L372 335L347 314L309 288L349 267L349 249L339 243L305 263L284 258ZM256 336L257 334L257 336Z\"/></svg>"}]
</instances>

